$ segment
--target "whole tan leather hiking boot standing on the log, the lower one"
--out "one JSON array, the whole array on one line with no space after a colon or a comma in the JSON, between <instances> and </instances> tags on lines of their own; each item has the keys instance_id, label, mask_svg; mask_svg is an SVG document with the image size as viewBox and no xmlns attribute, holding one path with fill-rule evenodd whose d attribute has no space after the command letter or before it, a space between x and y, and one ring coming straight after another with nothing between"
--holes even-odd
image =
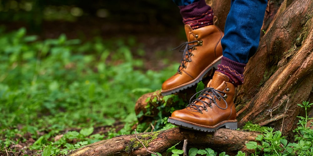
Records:
<instances>
[{"instance_id":1,"label":"whole tan leather hiking boot standing on the log, the lower one","mask_svg":"<svg viewBox=\"0 0 313 156\"><path fill-rule=\"evenodd\" d=\"M215 71L213 79L201 91L200 96L185 109L174 111L168 122L178 127L205 132L214 132L223 126L237 129L233 103L235 86L228 80L227 76Z\"/></svg>"}]
</instances>

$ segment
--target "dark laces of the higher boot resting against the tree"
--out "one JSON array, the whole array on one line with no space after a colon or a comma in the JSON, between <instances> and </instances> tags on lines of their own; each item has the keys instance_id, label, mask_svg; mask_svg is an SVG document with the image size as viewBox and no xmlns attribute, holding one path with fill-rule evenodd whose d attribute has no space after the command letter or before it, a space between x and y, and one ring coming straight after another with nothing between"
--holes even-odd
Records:
<instances>
[{"instance_id":1,"label":"dark laces of the higher boot resting against the tree","mask_svg":"<svg viewBox=\"0 0 313 156\"><path fill-rule=\"evenodd\" d=\"M195 43L195 42L198 42L197 40L196 41L190 41L190 42L185 42L185 43L182 43L181 45L177 46L176 48L172 49L172 50L175 50L175 49L179 49L179 52L183 52L182 54L182 60L181 61L181 64L179 65L178 69L177 69L177 72L178 73L181 73L181 67L182 68L185 68L185 62L191 62L191 56L193 56L193 54L189 51L190 49L194 49L195 46L198 46L198 44L196 45L189 45L191 43Z\"/></svg>"}]
</instances>

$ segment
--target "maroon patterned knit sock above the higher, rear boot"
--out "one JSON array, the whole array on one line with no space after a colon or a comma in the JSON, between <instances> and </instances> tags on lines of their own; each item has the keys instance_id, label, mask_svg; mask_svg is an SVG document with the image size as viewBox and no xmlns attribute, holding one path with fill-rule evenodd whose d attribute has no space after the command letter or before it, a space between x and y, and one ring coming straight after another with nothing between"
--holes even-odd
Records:
<instances>
[{"instance_id":1,"label":"maroon patterned knit sock above the higher, rear boot","mask_svg":"<svg viewBox=\"0 0 313 156\"><path fill-rule=\"evenodd\" d=\"M182 22L189 25L193 30L213 25L213 10L205 0L178 7L182 15Z\"/></svg>"}]
</instances>

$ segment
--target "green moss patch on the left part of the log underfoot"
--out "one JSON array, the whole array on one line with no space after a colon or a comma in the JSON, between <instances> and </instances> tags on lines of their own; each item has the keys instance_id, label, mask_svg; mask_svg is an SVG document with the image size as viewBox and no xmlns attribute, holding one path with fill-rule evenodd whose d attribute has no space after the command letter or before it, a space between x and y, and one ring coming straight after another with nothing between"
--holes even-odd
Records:
<instances>
[{"instance_id":1,"label":"green moss patch on the left part of the log underfoot","mask_svg":"<svg viewBox=\"0 0 313 156\"><path fill-rule=\"evenodd\" d=\"M149 146L149 143L157 138L157 136L160 134L160 131L152 132L150 134L142 134L137 135L138 139L146 146ZM134 149L143 148L142 144L136 139L131 138L129 145L126 146L125 151L131 152Z\"/></svg>"}]
</instances>

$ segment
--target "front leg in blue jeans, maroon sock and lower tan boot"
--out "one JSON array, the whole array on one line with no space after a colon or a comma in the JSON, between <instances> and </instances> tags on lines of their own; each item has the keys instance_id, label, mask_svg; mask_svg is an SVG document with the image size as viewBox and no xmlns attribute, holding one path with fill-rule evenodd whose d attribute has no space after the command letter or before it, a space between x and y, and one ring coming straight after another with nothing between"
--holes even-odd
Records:
<instances>
[{"instance_id":1,"label":"front leg in blue jeans, maroon sock and lower tan boot","mask_svg":"<svg viewBox=\"0 0 313 156\"><path fill-rule=\"evenodd\" d=\"M237 129L235 86L243 83L244 66L258 48L266 6L267 0L232 0L218 70L200 96L186 109L174 111L168 122L209 132L223 126Z\"/></svg>"}]
</instances>

